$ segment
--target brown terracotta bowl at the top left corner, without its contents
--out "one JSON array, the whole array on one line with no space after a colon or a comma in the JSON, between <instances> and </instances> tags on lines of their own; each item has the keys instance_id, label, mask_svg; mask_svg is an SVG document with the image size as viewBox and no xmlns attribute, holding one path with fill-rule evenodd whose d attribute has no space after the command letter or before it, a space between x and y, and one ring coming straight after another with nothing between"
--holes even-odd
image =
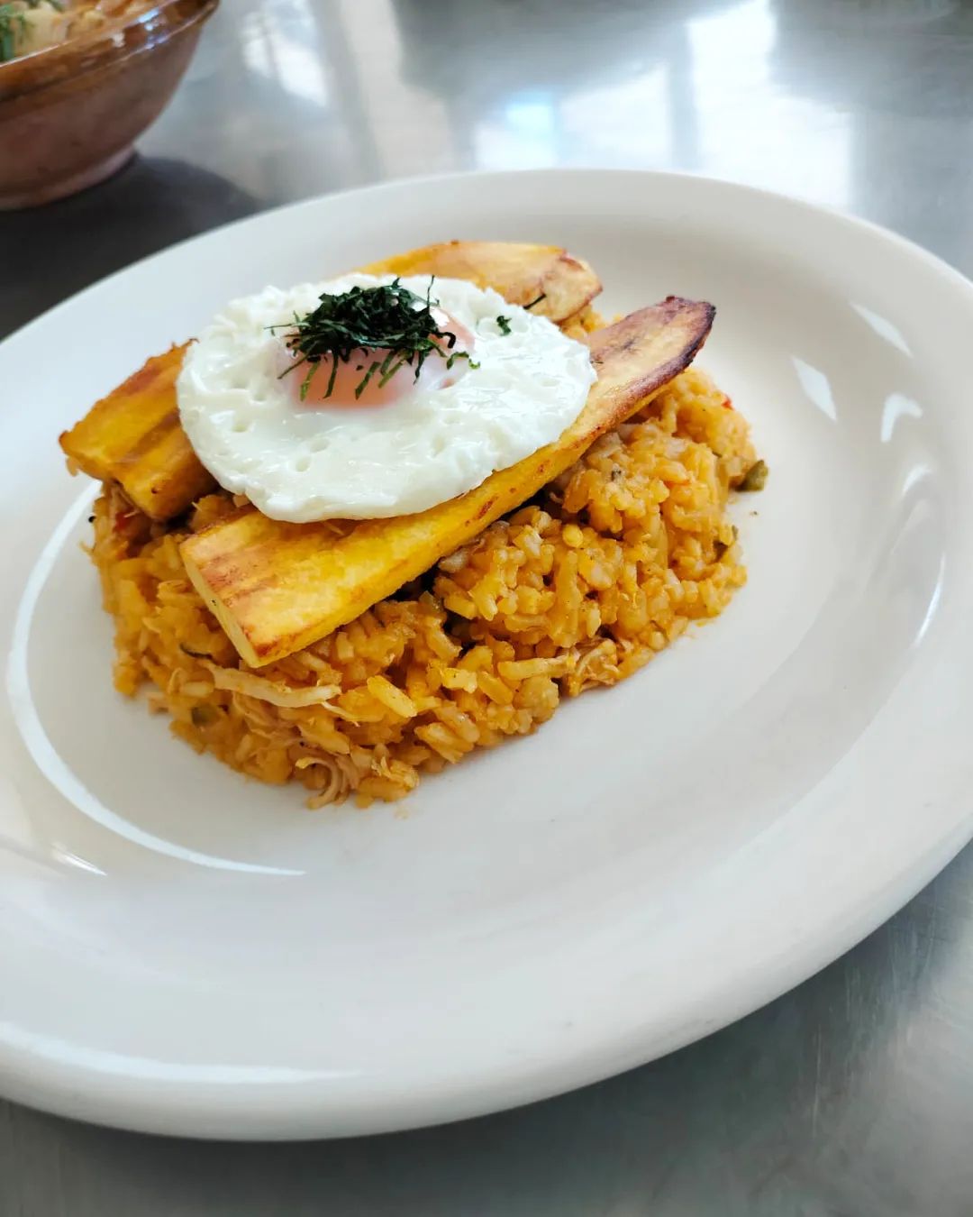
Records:
<instances>
[{"instance_id":1,"label":"brown terracotta bowl at the top left corner, without its contents","mask_svg":"<svg viewBox=\"0 0 973 1217\"><path fill-rule=\"evenodd\" d=\"M219 0L162 0L0 65L0 211L92 186L165 107Z\"/></svg>"}]
</instances>

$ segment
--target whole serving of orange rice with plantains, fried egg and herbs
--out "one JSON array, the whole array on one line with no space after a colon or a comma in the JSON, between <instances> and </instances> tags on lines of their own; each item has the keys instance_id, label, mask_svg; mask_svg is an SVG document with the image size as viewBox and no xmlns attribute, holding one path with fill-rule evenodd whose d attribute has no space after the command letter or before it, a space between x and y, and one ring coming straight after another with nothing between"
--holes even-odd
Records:
<instances>
[{"instance_id":1,"label":"whole serving of orange rice with plantains, fried egg and herbs","mask_svg":"<svg viewBox=\"0 0 973 1217\"><path fill-rule=\"evenodd\" d=\"M630 675L746 581L749 428L668 297L452 242L229 304L61 437L116 685L311 806L395 800Z\"/></svg>"}]
</instances>

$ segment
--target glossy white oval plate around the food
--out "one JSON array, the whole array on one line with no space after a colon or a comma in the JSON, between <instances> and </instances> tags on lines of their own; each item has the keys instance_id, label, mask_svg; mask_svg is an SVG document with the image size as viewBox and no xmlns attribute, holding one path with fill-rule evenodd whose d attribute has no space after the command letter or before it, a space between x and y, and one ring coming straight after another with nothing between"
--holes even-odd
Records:
<instances>
[{"instance_id":1,"label":"glossy white oval plate around the food","mask_svg":"<svg viewBox=\"0 0 973 1217\"><path fill-rule=\"evenodd\" d=\"M716 303L701 363L771 466L750 582L398 812L309 813L113 694L56 437L226 298L454 236L584 254L607 314ZM199 1135L454 1120L670 1051L872 930L973 831L971 333L973 287L879 229L555 172L271 212L4 343L0 1089Z\"/></svg>"}]
</instances>

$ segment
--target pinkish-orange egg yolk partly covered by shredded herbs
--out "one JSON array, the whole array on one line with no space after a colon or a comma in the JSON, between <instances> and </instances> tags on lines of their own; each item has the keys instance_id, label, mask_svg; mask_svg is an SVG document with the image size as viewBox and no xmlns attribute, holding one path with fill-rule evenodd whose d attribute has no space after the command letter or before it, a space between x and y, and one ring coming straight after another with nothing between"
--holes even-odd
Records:
<instances>
[{"instance_id":1,"label":"pinkish-orange egg yolk partly covered by shredded herbs","mask_svg":"<svg viewBox=\"0 0 973 1217\"><path fill-rule=\"evenodd\" d=\"M376 405L394 405L417 388L437 389L454 385L463 370L469 366L469 358L473 358L474 337L473 333L456 318L450 316L443 309L432 310L435 324L441 333L455 335L456 342L449 346L448 338L437 340L441 348L441 354L431 352L422 361L422 368L416 375L416 363L411 365L404 363L392 376L382 377L376 369L369 377L369 382L358 397L355 391L361 385L369 369L377 364L382 366L384 360L393 355L392 365L399 361L399 355L393 354L388 348L364 347L351 352L349 359L338 361L334 369L333 358L321 359L317 364L309 365L298 363L299 353L292 352L286 338L280 338L279 361L281 366L281 378L287 386L291 400L298 409L315 409L327 406L328 409L358 409ZM448 366L451 355L467 355L469 358L454 359L452 366ZM313 369L313 370L311 370ZM310 376L308 372L310 371ZM334 374L332 383L331 376ZM328 386L331 393L328 393Z\"/></svg>"}]
</instances>

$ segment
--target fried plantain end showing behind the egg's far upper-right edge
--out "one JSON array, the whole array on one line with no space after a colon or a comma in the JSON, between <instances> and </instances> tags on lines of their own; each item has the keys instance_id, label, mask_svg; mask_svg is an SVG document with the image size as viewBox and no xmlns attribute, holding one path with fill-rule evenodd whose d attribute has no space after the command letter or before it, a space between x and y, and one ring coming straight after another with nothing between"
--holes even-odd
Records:
<instances>
[{"instance_id":1,"label":"fried plantain end showing behind the egg's far upper-right edge","mask_svg":"<svg viewBox=\"0 0 973 1217\"><path fill-rule=\"evenodd\" d=\"M493 287L511 304L562 323L580 313L601 291L586 262L556 245L513 241L440 241L362 267L366 275L437 275ZM539 297L541 297L539 299Z\"/></svg>"}]
</instances>

